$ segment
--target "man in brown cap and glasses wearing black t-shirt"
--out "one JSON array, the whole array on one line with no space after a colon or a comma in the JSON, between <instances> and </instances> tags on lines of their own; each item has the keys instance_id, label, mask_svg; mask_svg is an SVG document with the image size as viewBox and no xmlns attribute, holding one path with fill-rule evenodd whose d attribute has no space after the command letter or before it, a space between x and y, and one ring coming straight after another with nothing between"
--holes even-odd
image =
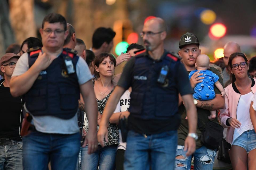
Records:
<instances>
[{"instance_id":1,"label":"man in brown cap and glasses wearing black t-shirt","mask_svg":"<svg viewBox=\"0 0 256 170\"><path fill-rule=\"evenodd\" d=\"M20 136L22 114L21 96L10 93L10 79L20 56L6 53L0 60L0 169L22 168L22 139Z\"/></svg>"}]
</instances>

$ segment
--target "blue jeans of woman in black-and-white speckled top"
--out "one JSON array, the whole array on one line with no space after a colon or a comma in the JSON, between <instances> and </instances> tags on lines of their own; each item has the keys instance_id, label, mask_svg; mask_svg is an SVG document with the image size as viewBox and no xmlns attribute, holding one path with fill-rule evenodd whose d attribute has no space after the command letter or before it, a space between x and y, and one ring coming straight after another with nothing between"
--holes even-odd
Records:
<instances>
[{"instance_id":1,"label":"blue jeans of woman in black-and-white speckled top","mask_svg":"<svg viewBox=\"0 0 256 170\"><path fill-rule=\"evenodd\" d=\"M88 146L82 148L81 169L82 170L114 170L115 155L117 153L117 145L105 146L98 149L93 154L88 154Z\"/></svg>"}]
</instances>

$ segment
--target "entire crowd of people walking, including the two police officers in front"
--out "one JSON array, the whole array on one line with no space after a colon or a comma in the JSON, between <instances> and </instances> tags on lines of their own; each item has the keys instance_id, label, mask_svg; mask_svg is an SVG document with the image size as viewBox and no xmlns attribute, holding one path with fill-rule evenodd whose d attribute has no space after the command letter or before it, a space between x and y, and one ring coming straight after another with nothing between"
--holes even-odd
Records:
<instances>
[{"instance_id":1,"label":"entire crowd of people walking, including the two police officers in front","mask_svg":"<svg viewBox=\"0 0 256 170\"><path fill-rule=\"evenodd\" d=\"M153 18L144 46L115 57L111 28L97 28L90 49L60 14L39 31L42 40L11 44L0 60L0 169L256 168L256 56L248 61L236 42L211 62L187 32L177 55ZM209 121L224 127L231 164L202 142Z\"/></svg>"}]
</instances>

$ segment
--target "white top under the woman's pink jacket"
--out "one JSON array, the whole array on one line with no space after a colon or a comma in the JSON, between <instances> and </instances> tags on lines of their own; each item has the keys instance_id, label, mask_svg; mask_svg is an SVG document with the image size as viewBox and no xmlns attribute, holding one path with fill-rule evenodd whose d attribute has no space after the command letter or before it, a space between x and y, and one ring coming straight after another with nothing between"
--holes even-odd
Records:
<instances>
[{"instance_id":1,"label":"white top under the woman's pink jacket","mask_svg":"<svg viewBox=\"0 0 256 170\"><path fill-rule=\"evenodd\" d=\"M237 105L237 120L242 124L240 128L235 128L233 134L233 142L237 139L243 132L247 130L253 130L253 124L250 119L250 104L253 99L253 92L241 95Z\"/></svg>"}]
</instances>

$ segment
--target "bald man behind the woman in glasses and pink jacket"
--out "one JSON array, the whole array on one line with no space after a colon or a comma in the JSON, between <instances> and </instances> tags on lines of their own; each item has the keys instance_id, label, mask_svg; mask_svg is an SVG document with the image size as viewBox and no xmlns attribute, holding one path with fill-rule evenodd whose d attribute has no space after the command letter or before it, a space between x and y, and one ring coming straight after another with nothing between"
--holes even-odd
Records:
<instances>
[{"instance_id":1,"label":"bald man behind the woman in glasses and pink jacket","mask_svg":"<svg viewBox=\"0 0 256 170\"><path fill-rule=\"evenodd\" d=\"M241 49L240 49L240 46L238 43L236 43L234 41L230 41L224 45L223 61L225 63L226 68L224 68L224 70L222 71L222 76L223 76L223 83L224 83L225 87L228 84L230 84L230 83L228 83L228 81L230 81L230 73L229 73L229 69L227 68L227 64L229 62L230 55L235 52L241 52ZM226 84L226 83L228 83L228 84Z\"/></svg>"}]
</instances>

